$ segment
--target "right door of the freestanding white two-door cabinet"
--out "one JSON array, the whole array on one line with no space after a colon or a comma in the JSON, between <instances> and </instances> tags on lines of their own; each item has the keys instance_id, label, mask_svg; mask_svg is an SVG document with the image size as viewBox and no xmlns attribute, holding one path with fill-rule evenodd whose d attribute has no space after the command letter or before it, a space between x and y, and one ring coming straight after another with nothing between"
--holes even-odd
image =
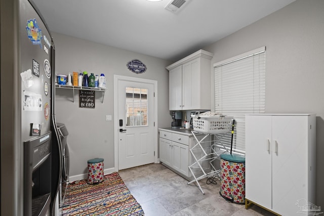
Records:
<instances>
[{"instance_id":1,"label":"right door of the freestanding white two-door cabinet","mask_svg":"<svg viewBox=\"0 0 324 216\"><path fill-rule=\"evenodd\" d=\"M272 116L272 209L281 215L308 200L307 143L308 116Z\"/></svg>"}]
</instances>

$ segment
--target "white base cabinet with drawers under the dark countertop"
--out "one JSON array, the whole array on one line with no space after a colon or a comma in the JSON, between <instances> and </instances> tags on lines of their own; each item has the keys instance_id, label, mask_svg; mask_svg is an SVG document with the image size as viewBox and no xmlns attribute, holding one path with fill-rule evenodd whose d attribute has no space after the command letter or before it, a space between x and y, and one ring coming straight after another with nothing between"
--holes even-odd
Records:
<instances>
[{"instance_id":1,"label":"white base cabinet with drawers under the dark countertop","mask_svg":"<svg viewBox=\"0 0 324 216\"><path fill-rule=\"evenodd\" d=\"M189 165L193 163L189 149L196 144L191 134L183 135L171 131L159 131L159 159L164 165L180 174L187 180L192 180ZM195 150L198 151L198 150ZM197 152L199 154L199 152ZM204 166L209 164L204 163Z\"/></svg>"}]
</instances>

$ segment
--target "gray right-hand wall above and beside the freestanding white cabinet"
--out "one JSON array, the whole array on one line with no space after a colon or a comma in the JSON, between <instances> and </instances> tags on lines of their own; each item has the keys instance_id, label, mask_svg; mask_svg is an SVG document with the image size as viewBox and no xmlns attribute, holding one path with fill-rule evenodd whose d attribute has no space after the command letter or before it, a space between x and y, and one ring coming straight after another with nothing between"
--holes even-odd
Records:
<instances>
[{"instance_id":1,"label":"gray right-hand wall above and beside the freestanding white cabinet","mask_svg":"<svg viewBox=\"0 0 324 216\"><path fill-rule=\"evenodd\" d=\"M324 1L296 1L203 49L215 54L213 65L262 46L266 46L266 112L316 113L314 204L323 208Z\"/></svg>"}]
</instances>

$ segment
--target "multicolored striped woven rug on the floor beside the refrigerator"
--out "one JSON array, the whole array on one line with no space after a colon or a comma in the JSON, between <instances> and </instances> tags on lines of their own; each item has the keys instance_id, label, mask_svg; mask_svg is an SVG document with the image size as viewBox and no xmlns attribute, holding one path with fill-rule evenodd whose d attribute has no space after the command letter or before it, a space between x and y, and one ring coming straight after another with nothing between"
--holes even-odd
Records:
<instances>
[{"instance_id":1,"label":"multicolored striped woven rug on the floor beside the refrigerator","mask_svg":"<svg viewBox=\"0 0 324 216\"><path fill-rule=\"evenodd\" d=\"M117 172L104 181L90 185L87 180L72 182L62 208L62 215L144 215Z\"/></svg>"}]
</instances>

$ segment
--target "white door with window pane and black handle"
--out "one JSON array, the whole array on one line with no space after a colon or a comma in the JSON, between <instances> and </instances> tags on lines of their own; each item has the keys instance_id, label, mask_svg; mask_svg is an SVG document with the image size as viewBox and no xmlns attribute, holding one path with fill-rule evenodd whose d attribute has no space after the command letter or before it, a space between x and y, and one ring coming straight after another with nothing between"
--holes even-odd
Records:
<instances>
[{"instance_id":1,"label":"white door with window pane and black handle","mask_svg":"<svg viewBox=\"0 0 324 216\"><path fill-rule=\"evenodd\" d=\"M118 80L118 169L154 162L154 84Z\"/></svg>"}]
</instances>

